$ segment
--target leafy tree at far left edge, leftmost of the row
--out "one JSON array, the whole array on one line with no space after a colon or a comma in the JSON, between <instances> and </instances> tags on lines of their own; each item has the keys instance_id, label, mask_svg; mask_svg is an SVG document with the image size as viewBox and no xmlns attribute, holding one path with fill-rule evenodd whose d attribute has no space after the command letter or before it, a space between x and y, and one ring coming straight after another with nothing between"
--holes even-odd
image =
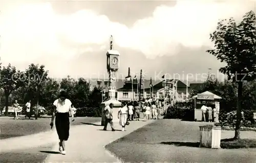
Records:
<instances>
[{"instance_id":1,"label":"leafy tree at far left edge, leftmost of the row","mask_svg":"<svg viewBox=\"0 0 256 163\"><path fill-rule=\"evenodd\" d=\"M5 94L5 115L8 115L9 96L12 91L18 89L23 85L21 72L16 70L14 66L9 64L7 67L3 67L1 70L0 86L4 89Z\"/></svg>"}]
</instances>

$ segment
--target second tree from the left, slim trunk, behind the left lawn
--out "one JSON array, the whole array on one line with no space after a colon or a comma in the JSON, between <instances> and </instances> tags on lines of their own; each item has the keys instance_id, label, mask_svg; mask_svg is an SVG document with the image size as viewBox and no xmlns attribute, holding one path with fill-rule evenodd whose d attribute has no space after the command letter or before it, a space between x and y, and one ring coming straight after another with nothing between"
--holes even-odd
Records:
<instances>
[{"instance_id":1,"label":"second tree from the left, slim trunk, behind the left lawn","mask_svg":"<svg viewBox=\"0 0 256 163\"><path fill-rule=\"evenodd\" d=\"M36 114L35 119L38 117L38 106L39 106L39 97L42 88L45 86L45 83L48 78L48 71L45 70L45 66L31 64L29 68L26 69L26 85L28 86L28 91L30 96L33 98L31 101L36 101ZM32 107L33 108L33 107Z\"/></svg>"}]
</instances>

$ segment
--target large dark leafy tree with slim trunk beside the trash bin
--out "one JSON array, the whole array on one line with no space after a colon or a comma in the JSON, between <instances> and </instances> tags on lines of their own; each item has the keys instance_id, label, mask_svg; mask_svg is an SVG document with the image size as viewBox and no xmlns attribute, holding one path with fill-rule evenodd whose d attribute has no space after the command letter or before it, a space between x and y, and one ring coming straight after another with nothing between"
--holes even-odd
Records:
<instances>
[{"instance_id":1,"label":"large dark leafy tree with slim trunk beside the trash bin","mask_svg":"<svg viewBox=\"0 0 256 163\"><path fill-rule=\"evenodd\" d=\"M210 40L215 46L207 52L227 64L220 68L220 72L226 74L238 85L234 139L240 139L243 82L255 79L256 75L256 16L254 12L246 13L240 23L236 23L233 18L228 21L221 20L216 31L210 34Z\"/></svg>"}]
</instances>

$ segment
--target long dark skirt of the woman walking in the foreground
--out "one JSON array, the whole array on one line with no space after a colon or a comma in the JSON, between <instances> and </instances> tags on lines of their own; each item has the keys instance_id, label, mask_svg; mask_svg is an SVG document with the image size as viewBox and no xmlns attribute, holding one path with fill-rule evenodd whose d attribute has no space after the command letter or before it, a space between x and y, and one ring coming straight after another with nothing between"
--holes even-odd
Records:
<instances>
[{"instance_id":1,"label":"long dark skirt of the woman walking in the foreground","mask_svg":"<svg viewBox=\"0 0 256 163\"><path fill-rule=\"evenodd\" d=\"M55 126L59 140L69 139L69 113L56 113Z\"/></svg>"}]
</instances>

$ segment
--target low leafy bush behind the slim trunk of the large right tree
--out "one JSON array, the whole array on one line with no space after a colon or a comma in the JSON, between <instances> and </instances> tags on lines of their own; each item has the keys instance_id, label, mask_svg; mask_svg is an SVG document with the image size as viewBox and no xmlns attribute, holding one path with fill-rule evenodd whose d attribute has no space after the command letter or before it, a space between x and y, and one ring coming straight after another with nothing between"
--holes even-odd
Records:
<instances>
[{"instance_id":1,"label":"low leafy bush behind the slim trunk of the large right tree","mask_svg":"<svg viewBox=\"0 0 256 163\"><path fill-rule=\"evenodd\" d=\"M243 110L242 121L241 121L242 127L256 126L255 120L253 119L253 112L255 111ZM235 127L237 122L237 111L232 111L229 113L220 113L219 121L220 121L219 125L221 126Z\"/></svg>"}]
</instances>

